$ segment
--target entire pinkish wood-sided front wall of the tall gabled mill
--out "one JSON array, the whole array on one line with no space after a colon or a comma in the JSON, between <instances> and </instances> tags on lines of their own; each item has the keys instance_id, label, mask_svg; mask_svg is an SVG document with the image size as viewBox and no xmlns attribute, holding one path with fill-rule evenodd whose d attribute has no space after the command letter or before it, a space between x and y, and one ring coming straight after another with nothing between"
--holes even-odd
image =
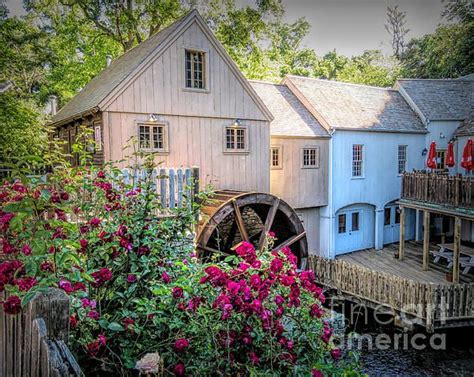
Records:
<instances>
[{"instance_id":1,"label":"entire pinkish wood-sided front wall of the tall gabled mill","mask_svg":"<svg viewBox=\"0 0 474 377\"><path fill-rule=\"evenodd\" d=\"M185 48L206 52L206 91L184 88ZM157 158L164 166L199 166L201 187L269 191L269 122L196 22L105 109L105 159L129 153L122 148L152 113L167 122L169 153ZM248 153L224 151L225 126L236 119L248 129Z\"/></svg>"}]
</instances>

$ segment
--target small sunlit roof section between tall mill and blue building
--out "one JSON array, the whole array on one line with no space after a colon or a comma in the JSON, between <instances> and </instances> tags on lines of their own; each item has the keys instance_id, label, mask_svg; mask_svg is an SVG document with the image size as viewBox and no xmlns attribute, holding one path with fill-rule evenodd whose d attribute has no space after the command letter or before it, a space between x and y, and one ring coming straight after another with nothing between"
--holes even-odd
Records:
<instances>
[{"instance_id":1,"label":"small sunlit roof section between tall mill and blue building","mask_svg":"<svg viewBox=\"0 0 474 377\"><path fill-rule=\"evenodd\" d=\"M273 115L272 136L326 137L327 131L285 85L250 80Z\"/></svg>"}]
</instances>

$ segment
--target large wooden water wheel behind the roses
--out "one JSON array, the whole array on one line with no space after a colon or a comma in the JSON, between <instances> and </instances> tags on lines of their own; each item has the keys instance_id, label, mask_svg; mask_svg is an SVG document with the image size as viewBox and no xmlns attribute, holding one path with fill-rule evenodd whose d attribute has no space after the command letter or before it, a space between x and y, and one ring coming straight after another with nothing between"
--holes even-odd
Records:
<instances>
[{"instance_id":1,"label":"large wooden water wheel behind the roses","mask_svg":"<svg viewBox=\"0 0 474 377\"><path fill-rule=\"evenodd\" d=\"M277 238L274 249L290 247L298 257L298 266L305 268L306 232L296 212L282 199L270 194L222 190L204 203L202 212L197 237L201 257L232 253L242 241L261 249L265 235L273 231Z\"/></svg>"}]
</instances>

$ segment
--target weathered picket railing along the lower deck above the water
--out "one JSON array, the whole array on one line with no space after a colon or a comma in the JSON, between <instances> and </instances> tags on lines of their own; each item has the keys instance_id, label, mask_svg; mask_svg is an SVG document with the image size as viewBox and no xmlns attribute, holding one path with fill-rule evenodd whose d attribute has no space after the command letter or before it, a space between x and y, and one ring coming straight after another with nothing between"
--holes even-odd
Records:
<instances>
[{"instance_id":1,"label":"weathered picket railing along the lower deck above the water","mask_svg":"<svg viewBox=\"0 0 474 377\"><path fill-rule=\"evenodd\" d=\"M366 300L374 307L388 306L417 318L428 331L453 322L474 321L474 283L423 283L317 256L310 257L309 267L320 284Z\"/></svg>"}]
</instances>

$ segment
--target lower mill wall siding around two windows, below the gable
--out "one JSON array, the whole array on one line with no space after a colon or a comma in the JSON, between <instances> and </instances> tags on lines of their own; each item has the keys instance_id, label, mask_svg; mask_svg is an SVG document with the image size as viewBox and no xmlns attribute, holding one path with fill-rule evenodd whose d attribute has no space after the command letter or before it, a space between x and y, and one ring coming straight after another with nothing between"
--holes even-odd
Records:
<instances>
[{"instance_id":1,"label":"lower mill wall siding around two windows, below the gable","mask_svg":"<svg viewBox=\"0 0 474 377\"><path fill-rule=\"evenodd\" d=\"M106 158L117 161L131 154L123 150L131 137L137 136L137 122L146 121L149 114L104 113L104 124L111 132L104 135ZM225 126L234 119L160 115L167 122L169 152L157 156L162 166L198 166L200 184L212 184L216 189L269 191L270 144L267 122L245 121L248 127L249 152L224 153ZM262 147L263 146L263 147ZM122 166L126 166L123 162Z\"/></svg>"}]
</instances>

